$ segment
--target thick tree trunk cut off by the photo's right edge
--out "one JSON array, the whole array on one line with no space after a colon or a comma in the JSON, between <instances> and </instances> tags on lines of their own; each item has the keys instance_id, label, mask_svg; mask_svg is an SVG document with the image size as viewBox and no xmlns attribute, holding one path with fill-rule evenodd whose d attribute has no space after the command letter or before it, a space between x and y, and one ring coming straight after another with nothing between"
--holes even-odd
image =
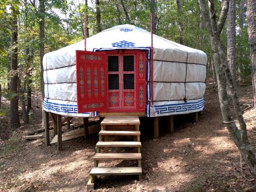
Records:
<instances>
[{"instance_id":1,"label":"thick tree trunk cut off by the photo's right edge","mask_svg":"<svg viewBox=\"0 0 256 192\"><path fill-rule=\"evenodd\" d=\"M256 106L256 1L247 0L247 24L252 67L253 105Z\"/></svg>"}]
</instances>

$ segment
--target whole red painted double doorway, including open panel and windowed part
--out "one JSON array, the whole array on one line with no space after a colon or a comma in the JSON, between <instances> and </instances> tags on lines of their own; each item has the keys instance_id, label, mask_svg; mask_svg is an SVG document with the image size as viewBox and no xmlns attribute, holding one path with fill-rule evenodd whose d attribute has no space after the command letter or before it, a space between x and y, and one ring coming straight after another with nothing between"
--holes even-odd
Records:
<instances>
[{"instance_id":1,"label":"whole red painted double doorway, including open panel and windowed part","mask_svg":"<svg viewBox=\"0 0 256 192\"><path fill-rule=\"evenodd\" d=\"M145 51L76 51L76 75L78 113L145 111Z\"/></svg>"}]
</instances>

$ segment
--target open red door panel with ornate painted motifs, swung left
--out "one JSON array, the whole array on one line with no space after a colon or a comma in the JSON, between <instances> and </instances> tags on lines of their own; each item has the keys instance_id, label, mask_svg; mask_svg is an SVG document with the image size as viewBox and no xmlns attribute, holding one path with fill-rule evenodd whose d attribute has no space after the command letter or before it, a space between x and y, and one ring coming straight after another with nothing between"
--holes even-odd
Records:
<instances>
[{"instance_id":1,"label":"open red door panel with ornate painted motifs, swung left","mask_svg":"<svg viewBox=\"0 0 256 192\"><path fill-rule=\"evenodd\" d=\"M105 52L76 51L77 113L107 111Z\"/></svg>"}]
</instances>

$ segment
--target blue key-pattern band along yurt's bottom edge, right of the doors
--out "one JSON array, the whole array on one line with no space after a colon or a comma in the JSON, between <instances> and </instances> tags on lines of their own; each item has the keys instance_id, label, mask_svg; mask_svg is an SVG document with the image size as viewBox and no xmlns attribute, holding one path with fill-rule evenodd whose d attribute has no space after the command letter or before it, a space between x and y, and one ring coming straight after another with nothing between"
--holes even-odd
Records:
<instances>
[{"instance_id":1,"label":"blue key-pattern band along yurt's bottom edge, right of the doors","mask_svg":"<svg viewBox=\"0 0 256 192\"><path fill-rule=\"evenodd\" d=\"M180 113L190 110L198 110L204 108L204 99L198 100L196 102L154 106L154 108L156 110L156 114Z\"/></svg>"}]
</instances>

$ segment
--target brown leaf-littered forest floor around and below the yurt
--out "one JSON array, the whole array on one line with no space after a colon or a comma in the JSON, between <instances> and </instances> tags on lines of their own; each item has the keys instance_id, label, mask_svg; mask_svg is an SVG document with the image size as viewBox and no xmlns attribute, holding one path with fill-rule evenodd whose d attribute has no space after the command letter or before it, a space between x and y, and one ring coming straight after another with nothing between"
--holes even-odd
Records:
<instances>
[{"instance_id":1,"label":"brown leaf-littered forest floor around and below the yurt","mask_svg":"<svg viewBox=\"0 0 256 192\"><path fill-rule=\"evenodd\" d=\"M241 84L238 89L241 107L246 109L253 102L252 86ZM41 129L41 111L33 105L30 124L16 131L10 130L8 116L0 116L0 191L85 191L98 135L64 141L62 151L56 144L45 147L44 139L26 141L28 132ZM244 117L255 115L256 109L245 110ZM175 132L168 134L162 118L161 137L153 139L153 126L147 126L151 119L142 118L142 181L136 176L101 177L95 191L244 191L256 185L241 174L240 155L222 123L218 92L211 81L207 81L199 122L189 119L188 115L174 116ZM255 118L246 123L250 141L256 146ZM242 167L244 176L251 179L243 161Z\"/></svg>"}]
</instances>

